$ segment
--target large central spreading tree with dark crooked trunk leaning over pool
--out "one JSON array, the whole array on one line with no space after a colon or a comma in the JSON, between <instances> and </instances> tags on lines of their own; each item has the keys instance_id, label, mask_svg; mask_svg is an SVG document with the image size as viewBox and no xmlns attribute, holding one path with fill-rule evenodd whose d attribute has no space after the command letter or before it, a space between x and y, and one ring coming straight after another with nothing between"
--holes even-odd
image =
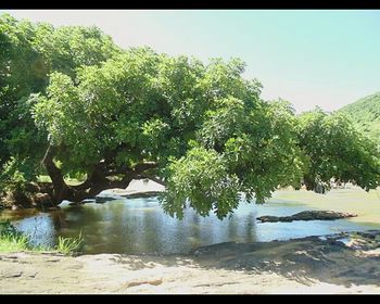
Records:
<instances>
[{"instance_id":1,"label":"large central spreading tree with dark crooked trunk leaning over pool","mask_svg":"<svg viewBox=\"0 0 380 304\"><path fill-rule=\"evenodd\" d=\"M81 68L74 81L52 74L34 115L49 134L45 164L55 200L153 177L168 187L163 206L169 213L181 216L188 200L199 213L223 217L241 191L263 202L279 185L299 185L295 116L287 103L261 100L261 85L243 72L237 59L205 66L132 49ZM87 180L65 185L71 170Z\"/></svg>"}]
</instances>

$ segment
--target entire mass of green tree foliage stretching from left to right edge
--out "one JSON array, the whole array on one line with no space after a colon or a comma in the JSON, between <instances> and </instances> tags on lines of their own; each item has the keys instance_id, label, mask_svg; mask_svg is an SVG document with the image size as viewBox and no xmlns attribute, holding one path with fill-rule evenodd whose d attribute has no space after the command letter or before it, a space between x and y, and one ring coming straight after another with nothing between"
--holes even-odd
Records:
<instances>
[{"instance_id":1,"label":"entire mass of green tree foliage stretching from left to right edge","mask_svg":"<svg viewBox=\"0 0 380 304\"><path fill-rule=\"evenodd\" d=\"M8 15L0 26L0 185L46 170L60 203L148 177L165 183L161 202L170 215L181 217L189 204L219 218L242 193L263 203L302 182L378 186L378 152L347 119L321 110L299 116L287 101L263 100L239 59L204 64L122 50L97 28ZM86 181L66 185L74 174Z\"/></svg>"}]
</instances>

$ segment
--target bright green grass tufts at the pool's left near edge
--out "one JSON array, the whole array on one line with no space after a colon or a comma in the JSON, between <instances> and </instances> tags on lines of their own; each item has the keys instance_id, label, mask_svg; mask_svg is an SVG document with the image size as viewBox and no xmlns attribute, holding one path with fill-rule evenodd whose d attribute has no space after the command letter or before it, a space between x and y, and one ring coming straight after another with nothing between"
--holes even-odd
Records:
<instances>
[{"instance_id":1,"label":"bright green grass tufts at the pool's left near edge","mask_svg":"<svg viewBox=\"0 0 380 304\"><path fill-rule=\"evenodd\" d=\"M78 238L59 237L54 248L33 245L28 236L18 231L10 220L0 221L0 253L13 252L56 252L65 255L73 255L83 245L84 238L79 233Z\"/></svg>"}]
</instances>

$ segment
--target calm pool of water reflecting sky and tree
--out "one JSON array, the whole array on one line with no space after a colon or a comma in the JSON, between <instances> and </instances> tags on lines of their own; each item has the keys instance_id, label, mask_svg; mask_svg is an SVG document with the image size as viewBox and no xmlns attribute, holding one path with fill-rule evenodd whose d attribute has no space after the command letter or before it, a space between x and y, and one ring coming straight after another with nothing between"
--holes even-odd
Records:
<instances>
[{"instance_id":1,"label":"calm pool of water reflecting sky and tree","mask_svg":"<svg viewBox=\"0 0 380 304\"><path fill-rule=\"evenodd\" d=\"M305 236L380 228L346 219L256 223L261 215L291 215L309 210L300 203L273 199L264 205L241 203L232 216L219 220L185 211L182 220L164 214L155 198L63 206L60 211L3 211L14 225L38 244L54 245L59 236L85 238L85 253L187 253L219 242L286 240Z\"/></svg>"}]
</instances>

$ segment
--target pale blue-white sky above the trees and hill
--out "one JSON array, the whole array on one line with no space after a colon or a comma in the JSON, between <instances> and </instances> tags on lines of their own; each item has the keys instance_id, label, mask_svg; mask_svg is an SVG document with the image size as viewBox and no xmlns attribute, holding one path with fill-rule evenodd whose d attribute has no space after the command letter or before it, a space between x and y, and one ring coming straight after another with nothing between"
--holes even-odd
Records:
<instances>
[{"instance_id":1,"label":"pale blue-white sky above the trees and hill","mask_svg":"<svg viewBox=\"0 0 380 304\"><path fill-rule=\"evenodd\" d=\"M0 10L16 18L96 25L123 47L240 58L264 99L334 111L380 91L380 10Z\"/></svg>"}]
</instances>

